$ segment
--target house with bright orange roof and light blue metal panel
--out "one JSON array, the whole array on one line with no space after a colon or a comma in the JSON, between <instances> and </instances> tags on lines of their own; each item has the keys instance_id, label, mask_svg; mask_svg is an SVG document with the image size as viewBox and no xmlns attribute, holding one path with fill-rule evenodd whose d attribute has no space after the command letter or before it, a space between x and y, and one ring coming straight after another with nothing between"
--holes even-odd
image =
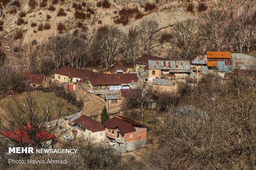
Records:
<instances>
[{"instance_id":1,"label":"house with bright orange roof and light blue metal panel","mask_svg":"<svg viewBox=\"0 0 256 170\"><path fill-rule=\"evenodd\" d=\"M217 69L218 72L231 72L232 59L229 51L207 51L208 69Z\"/></svg>"}]
</instances>

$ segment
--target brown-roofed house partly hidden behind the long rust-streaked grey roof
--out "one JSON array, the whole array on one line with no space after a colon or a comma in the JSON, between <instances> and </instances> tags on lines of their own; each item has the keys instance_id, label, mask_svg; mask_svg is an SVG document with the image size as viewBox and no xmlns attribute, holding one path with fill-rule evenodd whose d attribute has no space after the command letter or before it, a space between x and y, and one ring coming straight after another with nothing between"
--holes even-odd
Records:
<instances>
[{"instance_id":1,"label":"brown-roofed house partly hidden behind the long rust-streaked grey roof","mask_svg":"<svg viewBox=\"0 0 256 170\"><path fill-rule=\"evenodd\" d=\"M135 60L135 71L144 71L144 67L148 64L149 60L165 60L164 58L143 54L140 58Z\"/></svg>"}]
</instances>

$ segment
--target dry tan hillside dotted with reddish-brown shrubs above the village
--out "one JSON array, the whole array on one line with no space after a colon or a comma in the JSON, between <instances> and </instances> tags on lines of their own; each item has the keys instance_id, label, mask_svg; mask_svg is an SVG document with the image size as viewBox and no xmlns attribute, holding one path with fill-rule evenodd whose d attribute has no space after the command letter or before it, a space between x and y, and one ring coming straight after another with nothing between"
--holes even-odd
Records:
<instances>
[{"instance_id":1,"label":"dry tan hillside dotted with reddish-brown shrubs above the village","mask_svg":"<svg viewBox=\"0 0 256 170\"><path fill-rule=\"evenodd\" d=\"M59 23L63 23L66 27L62 31L63 33L72 33L76 28L83 25L93 34L99 26L104 25L119 25L121 29L126 31L129 27L137 25L141 19L145 18L155 19L159 23L159 28L165 28L175 24L177 21L197 18L203 13L197 11L200 0L110 0L109 8L108 6L99 7L99 2L96 0L37 0L34 9L33 6L29 5L30 1L5 0L2 2L0 6L2 11L2 14L0 12L0 21L3 21L3 29L0 31L0 40L4 46L3 48L14 50L14 47L20 47L21 44L30 43L33 40L43 42L49 36L59 34L59 30L57 30ZM8 3L5 4L5 2ZM76 3L76 6L73 2ZM146 8L146 2L149 2L150 5L156 5L156 7L149 6ZM204 0L203 3L207 6L206 11L227 9L228 13L234 15L238 15L246 9L256 9L256 1L254 0L226 0L225 2L223 0ZM191 4L194 6L193 12L188 12L187 7ZM136 19L137 16L133 16L126 26L115 23L121 9L135 7L141 13L138 17L139 19ZM57 16L59 9L64 9L64 15L66 16ZM76 15L82 18L83 14L85 14L84 19L75 16L76 10L80 12ZM21 12L25 14L20 16ZM32 23L34 23L33 27L31 26ZM39 31L38 26L40 23L49 23L50 29ZM14 35L19 30L21 30L23 36L21 39L16 40Z\"/></svg>"}]
</instances>

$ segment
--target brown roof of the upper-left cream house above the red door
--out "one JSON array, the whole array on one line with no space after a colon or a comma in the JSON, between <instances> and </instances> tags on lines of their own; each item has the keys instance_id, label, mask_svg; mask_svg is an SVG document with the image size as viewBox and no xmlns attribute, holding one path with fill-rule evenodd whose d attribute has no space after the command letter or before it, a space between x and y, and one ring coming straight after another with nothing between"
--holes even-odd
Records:
<instances>
[{"instance_id":1,"label":"brown roof of the upper-left cream house above the red door","mask_svg":"<svg viewBox=\"0 0 256 170\"><path fill-rule=\"evenodd\" d=\"M89 70L79 69L79 68L72 68L64 65L61 68L59 68L59 70L55 71L55 74L64 75L68 77L76 77L80 79L86 79L88 77L91 77L93 72Z\"/></svg>"}]
</instances>

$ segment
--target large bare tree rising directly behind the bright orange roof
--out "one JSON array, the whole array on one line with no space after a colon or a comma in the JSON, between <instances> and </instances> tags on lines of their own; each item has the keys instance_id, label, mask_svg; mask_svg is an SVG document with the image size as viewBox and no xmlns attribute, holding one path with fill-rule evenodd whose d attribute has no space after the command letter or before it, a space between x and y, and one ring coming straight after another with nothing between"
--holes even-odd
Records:
<instances>
[{"instance_id":1,"label":"large bare tree rising directly behind the bright orange roof","mask_svg":"<svg viewBox=\"0 0 256 170\"><path fill-rule=\"evenodd\" d=\"M228 42L231 34L228 33L228 15L224 10L212 10L201 16L200 33L207 42L207 50L217 51Z\"/></svg>"}]
</instances>

